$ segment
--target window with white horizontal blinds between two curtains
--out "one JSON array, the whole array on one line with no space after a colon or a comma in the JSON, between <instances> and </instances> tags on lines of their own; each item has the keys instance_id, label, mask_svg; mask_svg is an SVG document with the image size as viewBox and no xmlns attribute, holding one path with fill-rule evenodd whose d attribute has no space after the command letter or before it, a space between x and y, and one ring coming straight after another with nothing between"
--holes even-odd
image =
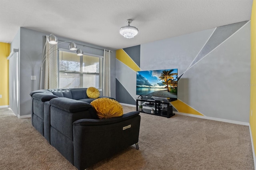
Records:
<instances>
[{"instance_id":1,"label":"window with white horizontal blinds between two curtains","mask_svg":"<svg viewBox=\"0 0 256 170\"><path fill-rule=\"evenodd\" d=\"M102 90L102 58L59 52L58 88L96 87Z\"/></svg>"}]
</instances>

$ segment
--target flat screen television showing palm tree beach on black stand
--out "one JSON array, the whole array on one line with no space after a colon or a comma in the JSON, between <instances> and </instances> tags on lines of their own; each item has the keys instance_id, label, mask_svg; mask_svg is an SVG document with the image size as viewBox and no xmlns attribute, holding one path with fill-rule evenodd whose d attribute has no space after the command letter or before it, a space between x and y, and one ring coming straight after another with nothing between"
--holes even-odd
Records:
<instances>
[{"instance_id":1,"label":"flat screen television showing palm tree beach on black stand","mask_svg":"<svg viewBox=\"0 0 256 170\"><path fill-rule=\"evenodd\" d=\"M178 69L137 71L136 95L177 100Z\"/></svg>"}]
</instances>

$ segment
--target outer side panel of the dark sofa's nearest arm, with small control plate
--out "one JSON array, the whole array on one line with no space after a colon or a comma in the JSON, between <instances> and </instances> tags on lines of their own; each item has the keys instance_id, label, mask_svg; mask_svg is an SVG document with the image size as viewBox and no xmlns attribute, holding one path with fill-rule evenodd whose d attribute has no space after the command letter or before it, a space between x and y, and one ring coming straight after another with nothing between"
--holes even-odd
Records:
<instances>
[{"instance_id":1,"label":"outer side panel of the dark sofa's nearest arm, with small control plate","mask_svg":"<svg viewBox=\"0 0 256 170\"><path fill-rule=\"evenodd\" d=\"M74 166L86 169L138 143L138 111L111 119L80 119L73 123Z\"/></svg>"}]
</instances>

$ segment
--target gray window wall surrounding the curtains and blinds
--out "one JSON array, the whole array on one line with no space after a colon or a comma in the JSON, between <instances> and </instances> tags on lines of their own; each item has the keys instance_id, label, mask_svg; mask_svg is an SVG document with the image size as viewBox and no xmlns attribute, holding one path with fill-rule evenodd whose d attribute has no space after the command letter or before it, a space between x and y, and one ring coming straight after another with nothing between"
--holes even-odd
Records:
<instances>
[{"instance_id":1,"label":"gray window wall surrounding the curtains and blinds","mask_svg":"<svg viewBox=\"0 0 256 170\"><path fill-rule=\"evenodd\" d=\"M42 50L44 48L45 36L50 35L50 33L37 32L27 28L20 28L20 35L16 36L11 43L11 49L17 48L20 49L20 116L30 115L31 114L31 97L30 92L38 90L39 84L39 74L40 74L40 64L42 59ZM66 38L58 37L61 40L70 40ZM20 42L20 47L18 43ZM99 50L104 49L104 47L92 45L89 43L73 41L79 43L82 47L83 45L90 45L89 48L85 47L85 53L99 54ZM115 69L115 57L116 51L111 53L111 97L116 97L116 69ZM103 50L101 50L103 55ZM30 80L31 75L36 75L36 80Z\"/></svg>"}]
</instances>

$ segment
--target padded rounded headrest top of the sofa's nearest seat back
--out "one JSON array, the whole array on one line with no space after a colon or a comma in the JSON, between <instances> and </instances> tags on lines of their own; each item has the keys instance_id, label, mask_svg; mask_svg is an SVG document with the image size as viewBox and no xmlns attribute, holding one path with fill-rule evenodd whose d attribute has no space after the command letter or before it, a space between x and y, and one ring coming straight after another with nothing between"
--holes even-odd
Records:
<instances>
[{"instance_id":1,"label":"padded rounded headrest top of the sofa's nearest seat back","mask_svg":"<svg viewBox=\"0 0 256 170\"><path fill-rule=\"evenodd\" d=\"M76 113L81 111L86 111L93 108L92 105L86 102L77 101L74 99L69 99L66 97L58 97L50 100L50 105L67 111L69 113Z\"/></svg>"}]
</instances>

